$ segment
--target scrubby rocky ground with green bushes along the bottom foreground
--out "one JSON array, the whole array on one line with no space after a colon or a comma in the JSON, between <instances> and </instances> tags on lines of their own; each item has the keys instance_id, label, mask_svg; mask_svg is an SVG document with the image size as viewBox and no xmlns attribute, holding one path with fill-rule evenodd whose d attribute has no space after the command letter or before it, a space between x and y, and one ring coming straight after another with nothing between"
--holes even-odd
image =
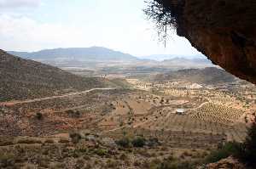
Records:
<instances>
[{"instance_id":1,"label":"scrubby rocky ground with green bushes along the bottom foreground","mask_svg":"<svg viewBox=\"0 0 256 169\"><path fill-rule=\"evenodd\" d=\"M80 138L81 136L81 138ZM156 138L139 142L76 135L48 138L2 138L0 168L192 168L207 149L174 149ZM123 142L122 142L123 141Z\"/></svg>"}]
</instances>

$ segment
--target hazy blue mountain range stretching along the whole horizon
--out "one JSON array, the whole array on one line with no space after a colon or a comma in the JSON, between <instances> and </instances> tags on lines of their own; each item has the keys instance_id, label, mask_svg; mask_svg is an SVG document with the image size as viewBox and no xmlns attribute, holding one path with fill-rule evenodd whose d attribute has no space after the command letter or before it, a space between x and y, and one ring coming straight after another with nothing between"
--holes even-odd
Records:
<instances>
[{"instance_id":1,"label":"hazy blue mountain range stretching along the whole horizon","mask_svg":"<svg viewBox=\"0 0 256 169\"><path fill-rule=\"evenodd\" d=\"M64 70L120 70L143 67L147 70L160 68L164 70L181 70L205 68L212 66L204 56L152 55L136 57L109 48L55 48L38 52L15 52L9 54L23 59L32 59L44 64L54 65ZM161 61L157 61L161 60ZM107 69L106 69L107 68Z\"/></svg>"}]
</instances>

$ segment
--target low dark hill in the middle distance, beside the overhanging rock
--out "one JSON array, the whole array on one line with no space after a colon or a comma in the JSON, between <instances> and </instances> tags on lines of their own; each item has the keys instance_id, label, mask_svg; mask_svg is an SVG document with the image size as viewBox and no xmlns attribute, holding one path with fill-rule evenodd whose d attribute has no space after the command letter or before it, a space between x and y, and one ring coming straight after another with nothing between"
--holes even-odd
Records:
<instances>
[{"instance_id":1,"label":"low dark hill in the middle distance, beside the overhanging rock","mask_svg":"<svg viewBox=\"0 0 256 169\"><path fill-rule=\"evenodd\" d=\"M166 74L160 74L155 76L156 81L166 80L179 80L197 82L203 84L217 84L221 82L234 82L235 76L230 73L218 69L216 67L207 67L204 69L189 69L189 70L177 70L171 71Z\"/></svg>"}]
</instances>

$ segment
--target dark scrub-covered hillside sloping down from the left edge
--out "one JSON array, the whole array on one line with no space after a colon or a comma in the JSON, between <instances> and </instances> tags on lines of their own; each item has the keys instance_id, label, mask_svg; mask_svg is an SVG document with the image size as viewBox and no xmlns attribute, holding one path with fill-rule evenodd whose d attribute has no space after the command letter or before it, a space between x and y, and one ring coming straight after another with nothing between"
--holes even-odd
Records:
<instances>
[{"instance_id":1,"label":"dark scrub-covered hillside sloping down from the left edge","mask_svg":"<svg viewBox=\"0 0 256 169\"><path fill-rule=\"evenodd\" d=\"M0 101L33 99L104 86L101 79L74 76L53 66L20 59L3 50L0 50L0 76Z\"/></svg>"}]
</instances>

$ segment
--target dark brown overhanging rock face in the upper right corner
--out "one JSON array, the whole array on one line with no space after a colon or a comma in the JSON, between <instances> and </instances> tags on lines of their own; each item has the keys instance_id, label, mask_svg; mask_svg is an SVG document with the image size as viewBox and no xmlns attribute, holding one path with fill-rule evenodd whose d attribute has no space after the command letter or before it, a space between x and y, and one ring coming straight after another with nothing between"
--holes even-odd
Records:
<instances>
[{"instance_id":1,"label":"dark brown overhanging rock face in the upper right corner","mask_svg":"<svg viewBox=\"0 0 256 169\"><path fill-rule=\"evenodd\" d=\"M165 1L182 6L177 35L189 39L213 64L256 84L255 0Z\"/></svg>"}]
</instances>

